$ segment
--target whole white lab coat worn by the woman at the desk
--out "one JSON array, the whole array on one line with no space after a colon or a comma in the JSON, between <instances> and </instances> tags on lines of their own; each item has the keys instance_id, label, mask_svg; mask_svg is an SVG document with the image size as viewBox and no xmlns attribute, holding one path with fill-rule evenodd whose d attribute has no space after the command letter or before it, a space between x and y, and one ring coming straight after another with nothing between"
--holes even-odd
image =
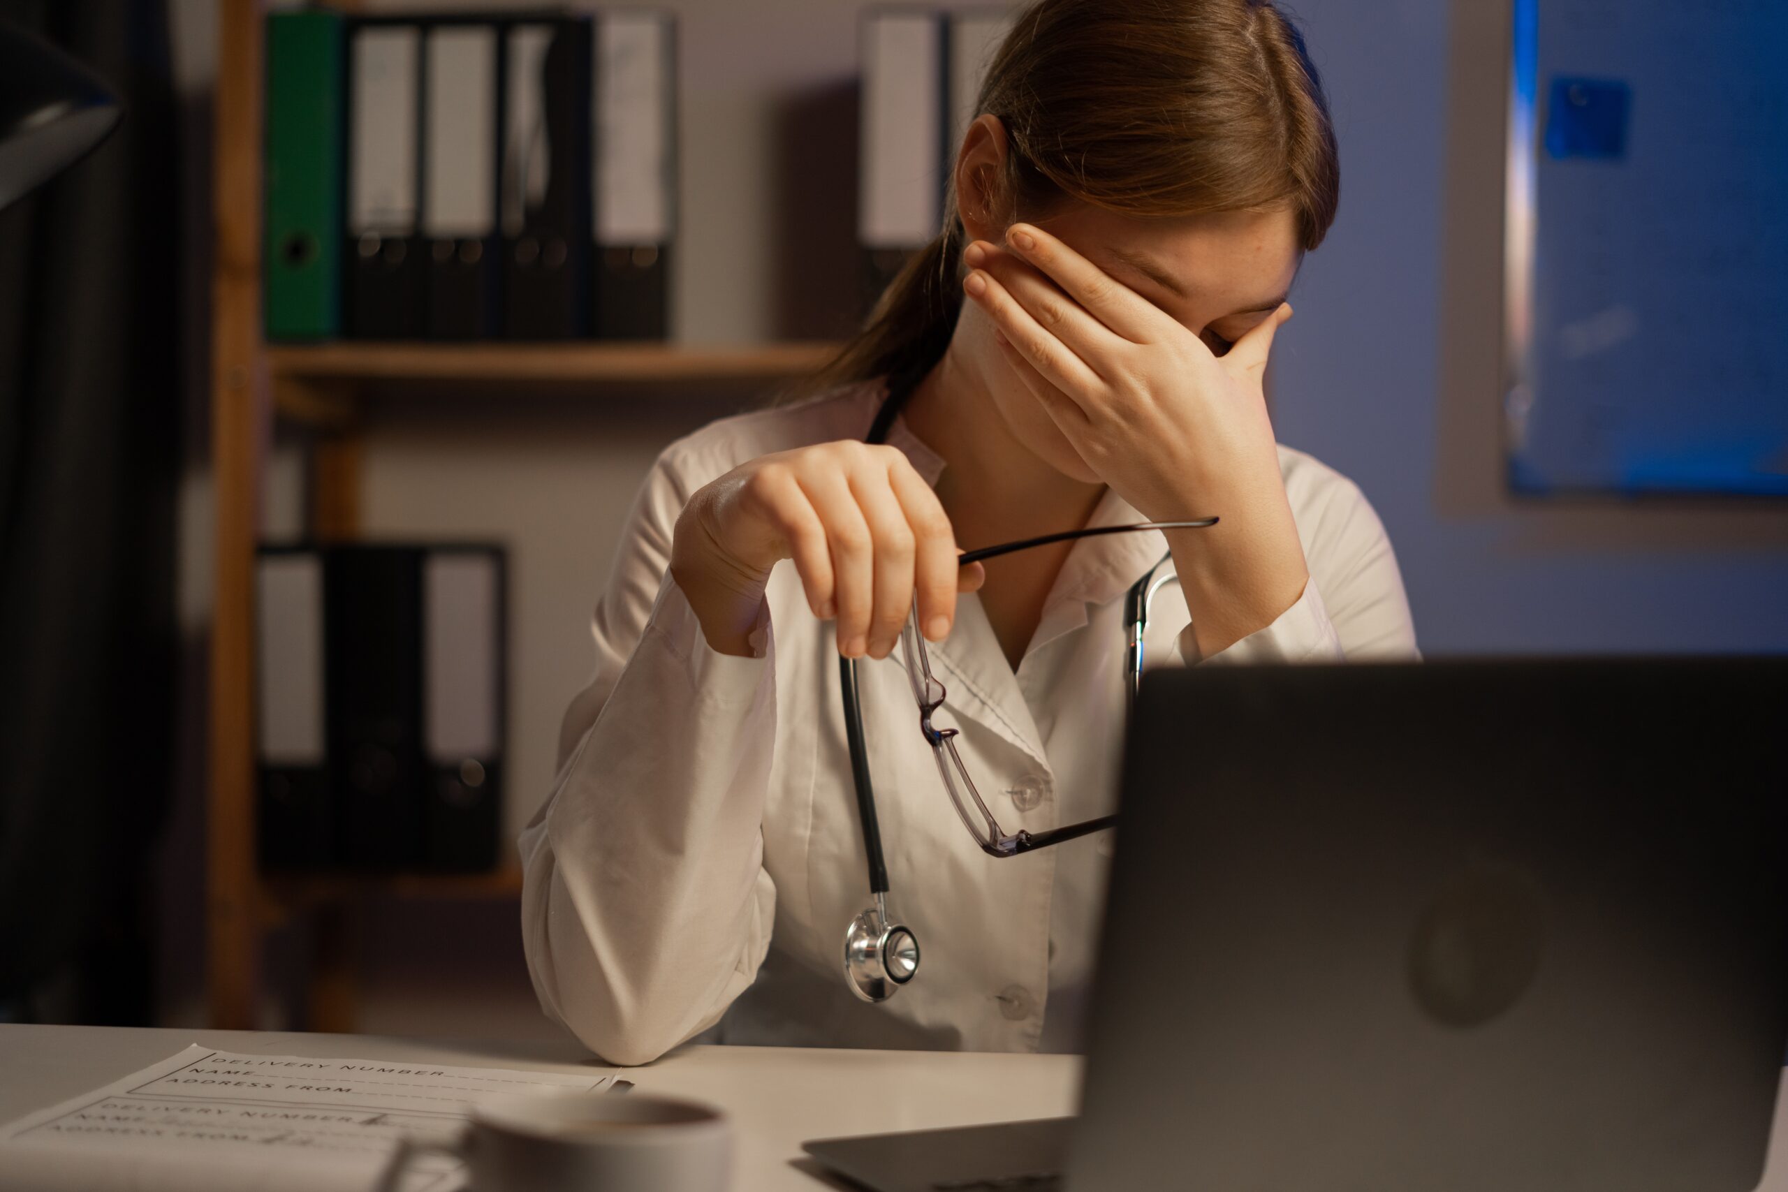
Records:
<instances>
[{"instance_id":1,"label":"whole white lab coat worn by the woman at the desk","mask_svg":"<svg viewBox=\"0 0 1788 1192\"><path fill-rule=\"evenodd\" d=\"M769 581L756 658L712 651L669 575L690 493L805 443L862 438L883 395L717 422L645 479L603 592L595 674L560 735L551 797L520 836L527 967L547 1015L615 1063L644 1063L717 1022L744 1044L1075 1049L1092 976L1110 835L994 860L942 790L899 651L860 663L864 733L892 885L923 947L881 1004L842 976L846 924L869 902L833 633L792 567ZM889 441L937 483L903 422ZM1266 629L1202 665L1414 656L1391 543L1350 481L1280 447L1311 581ZM1092 524L1141 522L1107 491ZM942 722L1001 827L1114 810L1123 738L1123 597L1166 554L1159 533L1080 540L1014 672L974 595L932 645ZM1171 563L1169 563L1171 567ZM1194 651L1185 602L1155 599L1151 656ZM1296 726L1286 726L1287 735ZM1196 765L1196 729L1189 729ZM724 1022L722 1022L724 1015Z\"/></svg>"}]
</instances>

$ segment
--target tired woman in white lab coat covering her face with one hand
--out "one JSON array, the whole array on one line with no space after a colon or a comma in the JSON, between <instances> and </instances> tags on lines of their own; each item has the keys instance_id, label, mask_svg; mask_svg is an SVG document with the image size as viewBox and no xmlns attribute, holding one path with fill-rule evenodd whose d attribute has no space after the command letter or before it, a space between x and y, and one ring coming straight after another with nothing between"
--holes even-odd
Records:
<instances>
[{"instance_id":1,"label":"tired woman in white lab coat covering her face with one hand","mask_svg":"<svg viewBox=\"0 0 1788 1192\"><path fill-rule=\"evenodd\" d=\"M992 858L964 829L896 649L914 602L940 724L1005 831L1114 810L1125 593L1157 563L1178 575L1157 661L1414 654L1379 518L1275 443L1261 391L1339 189L1278 9L1041 0L978 113L946 227L819 393L669 447L597 600L595 674L520 840L522 922L542 1006L611 1062L717 1024L753 1044L1076 1047L1110 833ZM865 445L890 377L905 402ZM923 940L923 970L880 1003L842 965L869 888L840 654L862 659L890 913Z\"/></svg>"}]
</instances>

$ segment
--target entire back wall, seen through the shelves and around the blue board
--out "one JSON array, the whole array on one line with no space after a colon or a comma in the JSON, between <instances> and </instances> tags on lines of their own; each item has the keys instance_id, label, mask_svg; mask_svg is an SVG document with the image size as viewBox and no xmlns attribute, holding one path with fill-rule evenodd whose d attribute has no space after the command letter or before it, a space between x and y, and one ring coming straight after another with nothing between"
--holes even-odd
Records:
<instances>
[{"instance_id":1,"label":"entire back wall, seen through the shelves and around the blue board","mask_svg":"<svg viewBox=\"0 0 1788 1192\"><path fill-rule=\"evenodd\" d=\"M1296 318L1277 341L1280 438L1355 477L1377 504L1429 654L1788 649L1783 508L1523 506L1502 495L1505 4L1295 5L1334 102L1345 182L1339 223L1305 263ZM202 23L209 5L179 7ZM672 7L683 55L678 334L822 332L849 306L860 5ZM188 32L202 55L202 30ZM458 397L392 402L374 418L372 533L488 534L513 547L511 829L551 786L558 717L588 670L588 608L633 488L658 447L722 409L663 393ZM293 508L284 488L272 495L275 524ZM190 524L188 575L202 575L202 518ZM367 1028L544 1029L501 906L374 906L361 929ZM190 985L170 979L186 990L175 1019L193 1013Z\"/></svg>"}]
</instances>

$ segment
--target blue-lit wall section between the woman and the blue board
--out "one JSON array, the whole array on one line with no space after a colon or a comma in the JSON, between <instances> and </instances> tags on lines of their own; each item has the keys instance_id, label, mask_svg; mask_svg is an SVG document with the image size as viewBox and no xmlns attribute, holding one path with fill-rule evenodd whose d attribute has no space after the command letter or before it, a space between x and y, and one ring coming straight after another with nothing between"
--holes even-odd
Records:
<instances>
[{"instance_id":1,"label":"blue-lit wall section between the woman and the blue board","mask_svg":"<svg viewBox=\"0 0 1788 1192\"><path fill-rule=\"evenodd\" d=\"M1502 491L1507 0L1296 9L1343 198L1275 341L1275 422L1379 508L1423 649L1788 649L1788 504Z\"/></svg>"}]
</instances>

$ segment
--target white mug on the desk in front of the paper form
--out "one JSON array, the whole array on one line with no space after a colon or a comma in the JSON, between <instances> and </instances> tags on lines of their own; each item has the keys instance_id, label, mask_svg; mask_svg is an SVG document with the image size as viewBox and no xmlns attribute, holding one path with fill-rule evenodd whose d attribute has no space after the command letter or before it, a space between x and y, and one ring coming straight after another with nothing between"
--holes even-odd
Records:
<instances>
[{"instance_id":1,"label":"white mug on the desk in front of the paper form","mask_svg":"<svg viewBox=\"0 0 1788 1192\"><path fill-rule=\"evenodd\" d=\"M519 1094L472 1106L451 1142L404 1138L379 1179L397 1192L418 1154L465 1162L470 1192L724 1192L726 1117L642 1094Z\"/></svg>"}]
</instances>

